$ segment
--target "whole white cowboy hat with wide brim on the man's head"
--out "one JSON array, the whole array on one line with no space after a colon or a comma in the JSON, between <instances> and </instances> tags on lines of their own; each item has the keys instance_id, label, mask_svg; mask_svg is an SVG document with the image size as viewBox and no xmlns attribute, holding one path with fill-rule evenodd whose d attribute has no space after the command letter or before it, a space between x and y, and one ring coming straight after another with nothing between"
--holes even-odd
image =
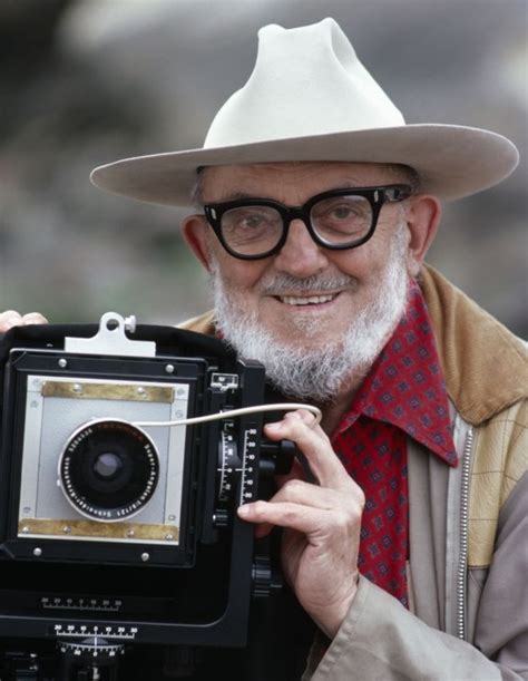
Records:
<instances>
[{"instance_id":1,"label":"whole white cowboy hat with wide brim on the man's head","mask_svg":"<svg viewBox=\"0 0 528 681\"><path fill-rule=\"evenodd\" d=\"M91 182L141 201L189 205L202 166L292 160L404 164L422 189L460 198L490 187L518 163L496 133L453 125L405 125L333 19L258 31L253 74L219 109L203 148L126 158Z\"/></svg>"}]
</instances>

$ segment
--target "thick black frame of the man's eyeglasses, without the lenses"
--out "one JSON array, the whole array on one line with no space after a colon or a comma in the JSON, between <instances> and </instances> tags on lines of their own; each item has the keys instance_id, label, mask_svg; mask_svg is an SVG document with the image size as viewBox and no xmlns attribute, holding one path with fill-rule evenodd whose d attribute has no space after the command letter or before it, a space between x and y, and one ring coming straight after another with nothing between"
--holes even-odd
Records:
<instances>
[{"instance_id":1,"label":"thick black frame of the man's eyeglasses, without the lenses","mask_svg":"<svg viewBox=\"0 0 528 681\"><path fill-rule=\"evenodd\" d=\"M325 198L350 195L363 196L369 201L372 210L372 220L369 232L364 236L362 236L356 243L353 244L330 244L323 239L321 239L321 236L319 236L319 234L315 232L311 221L311 210L316 203L319 203L320 201L324 201ZM304 223L310 236L312 237L314 243L317 244L317 246L329 249L330 251L344 251L348 249L356 249L358 246L361 246L365 242L368 242L374 234L381 208L385 203L400 203L401 201L405 201L405 198L409 198L409 196L411 195L412 188L410 187L410 185L394 184L380 185L375 187L346 187L341 189L330 189L327 192L322 192L321 194L315 194L315 196L309 198L301 206L286 206L283 203L280 203L278 201L273 201L271 198L238 198L235 201L226 201L221 203L208 203L204 204L203 207L207 223L216 234L216 237L221 242L224 250L227 251L229 255L238 260L263 260L264 257L270 257L271 255L275 255L275 253L278 253L281 251L281 249L286 243L290 225L294 220L301 220ZM222 233L223 215L227 213L227 211L231 211L233 208L243 208L245 206L266 206L270 208L274 208L282 217L283 232L281 239L273 246L273 249L270 249L268 251L262 254L245 255L233 251L233 249L226 243Z\"/></svg>"}]
</instances>

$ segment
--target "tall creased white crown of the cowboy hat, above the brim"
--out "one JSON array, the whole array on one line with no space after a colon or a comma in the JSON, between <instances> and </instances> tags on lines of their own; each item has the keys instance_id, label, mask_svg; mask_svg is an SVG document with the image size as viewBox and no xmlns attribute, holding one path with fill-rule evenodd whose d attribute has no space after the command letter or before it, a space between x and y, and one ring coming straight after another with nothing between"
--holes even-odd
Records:
<instances>
[{"instance_id":1,"label":"tall creased white crown of the cowboy hat, above the brim","mask_svg":"<svg viewBox=\"0 0 528 681\"><path fill-rule=\"evenodd\" d=\"M255 68L214 118L204 148L404 125L331 18L258 31Z\"/></svg>"}]
</instances>

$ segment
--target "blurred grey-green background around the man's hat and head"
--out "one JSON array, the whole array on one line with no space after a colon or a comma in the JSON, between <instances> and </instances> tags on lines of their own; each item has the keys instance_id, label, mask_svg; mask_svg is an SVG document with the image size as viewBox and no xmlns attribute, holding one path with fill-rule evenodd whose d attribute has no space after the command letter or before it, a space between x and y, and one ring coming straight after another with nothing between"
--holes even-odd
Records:
<instances>
[{"instance_id":1,"label":"blurred grey-green background around the man's hat and head","mask_svg":"<svg viewBox=\"0 0 528 681\"><path fill-rule=\"evenodd\" d=\"M205 310L183 213L106 194L89 172L202 146L257 29L326 16L408 123L519 147L506 182L446 206L429 262L527 338L527 0L1 0L0 310L160 323Z\"/></svg>"}]
</instances>

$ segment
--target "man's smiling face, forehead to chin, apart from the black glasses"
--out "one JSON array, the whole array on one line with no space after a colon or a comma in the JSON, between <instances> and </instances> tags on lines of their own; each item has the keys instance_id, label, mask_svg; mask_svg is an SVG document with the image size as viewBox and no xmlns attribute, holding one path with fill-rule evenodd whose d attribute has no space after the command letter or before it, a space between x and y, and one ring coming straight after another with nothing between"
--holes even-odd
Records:
<instances>
[{"instance_id":1,"label":"man's smiling face, forehead to chin, apart from the black glasses","mask_svg":"<svg viewBox=\"0 0 528 681\"><path fill-rule=\"evenodd\" d=\"M395 182L393 172L374 164L224 166L207 169L203 196L205 203L245 195L295 206L327 189ZM372 239L346 251L319 247L305 225L293 221L282 251L258 261L232 257L212 231L207 241L224 286L236 296L241 312L252 313L278 342L313 348L342 338L351 320L372 303L399 221L401 206L385 205ZM290 286L284 285L287 278L292 278Z\"/></svg>"}]
</instances>

